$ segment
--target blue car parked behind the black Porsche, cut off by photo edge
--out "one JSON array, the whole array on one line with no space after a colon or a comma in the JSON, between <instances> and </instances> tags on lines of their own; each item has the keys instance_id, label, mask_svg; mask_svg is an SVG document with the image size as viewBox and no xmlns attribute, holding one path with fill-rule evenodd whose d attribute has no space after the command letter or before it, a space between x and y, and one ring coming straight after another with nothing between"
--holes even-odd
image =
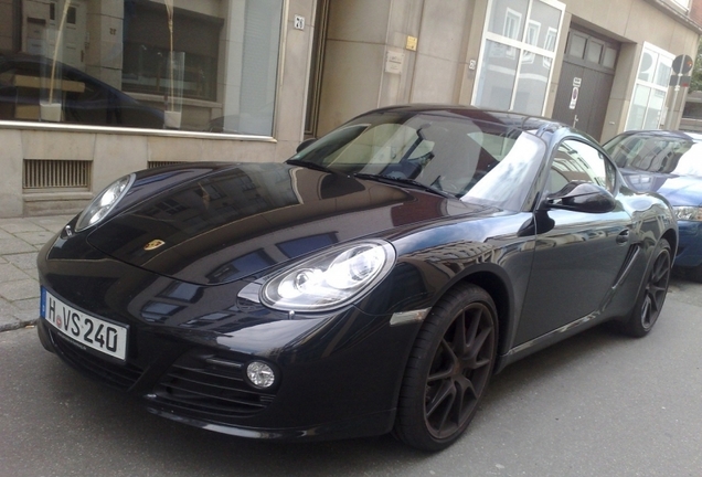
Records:
<instances>
[{"instance_id":1,"label":"blue car parked behind the black Porsche, cut off by photo edge","mask_svg":"<svg viewBox=\"0 0 702 477\"><path fill-rule=\"evenodd\" d=\"M680 229L673 265L702 282L702 135L628 131L609 140L605 149L631 189L658 192L671 203Z\"/></svg>"}]
</instances>

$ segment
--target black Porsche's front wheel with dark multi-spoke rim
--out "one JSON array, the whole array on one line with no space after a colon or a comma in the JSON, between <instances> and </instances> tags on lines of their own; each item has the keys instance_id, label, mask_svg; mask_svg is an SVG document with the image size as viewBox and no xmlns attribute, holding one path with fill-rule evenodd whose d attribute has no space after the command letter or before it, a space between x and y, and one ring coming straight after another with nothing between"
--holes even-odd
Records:
<instances>
[{"instance_id":1,"label":"black Porsche's front wheel with dark multi-spoke rim","mask_svg":"<svg viewBox=\"0 0 702 477\"><path fill-rule=\"evenodd\" d=\"M460 437L490 381L497 337L490 295L475 285L450 290L426 318L412 350L395 436L432 452Z\"/></svg>"}]
</instances>

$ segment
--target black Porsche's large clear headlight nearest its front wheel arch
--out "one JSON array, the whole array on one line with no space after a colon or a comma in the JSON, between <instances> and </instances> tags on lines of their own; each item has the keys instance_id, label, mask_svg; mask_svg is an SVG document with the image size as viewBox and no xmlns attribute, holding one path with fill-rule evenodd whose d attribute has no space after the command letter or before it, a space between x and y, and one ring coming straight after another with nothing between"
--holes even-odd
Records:
<instances>
[{"instance_id":1,"label":"black Porsche's large clear headlight nearest its front wheel arch","mask_svg":"<svg viewBox=\"0 0 702 477\"><path fill-rule=\"evenodd\" d=\"M394 264L395 250L387 242L334 247L268 278L260 301L286 311L328 311L377 284Z\"/></svg>"}]
</instances>

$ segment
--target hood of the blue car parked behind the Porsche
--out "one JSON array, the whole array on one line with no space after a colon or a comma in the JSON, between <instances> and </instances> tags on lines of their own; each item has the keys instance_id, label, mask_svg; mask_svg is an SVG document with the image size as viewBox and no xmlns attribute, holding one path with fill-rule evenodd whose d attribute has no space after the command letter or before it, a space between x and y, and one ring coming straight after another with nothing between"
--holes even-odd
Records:
<instances>
[{"instance_id":1,"label":"hood of the blue car parked behind the Porsche","mask_svg":"<svg viewBox=\"0 0 702 477\"><path fill-rule=\"evenodd\" d=\"M627 184L638 192L657 192L671 205L702 204L702 179L692 176L645 172L623 169Z\"/></svg>"}]
</instances>

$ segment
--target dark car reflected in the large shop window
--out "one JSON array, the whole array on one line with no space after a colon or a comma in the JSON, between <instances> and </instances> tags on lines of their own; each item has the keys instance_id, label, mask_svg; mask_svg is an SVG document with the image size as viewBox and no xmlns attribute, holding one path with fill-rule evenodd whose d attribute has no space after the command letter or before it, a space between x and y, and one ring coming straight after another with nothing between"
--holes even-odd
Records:
<instances>
[{"instance_id":1,"label":"dark car reflected in the large shop window","mask_svg":"<svg viewBox=\"0 0 702 477\"><path fill-rule=\"evenodd\" d=\"M29 54L0 55L0 120L39 120L41 78L51 74L50 59ZM62 123L163 128L163 112L88 74L57 63L61 73Z\"/></svg>"}]
</instances>

